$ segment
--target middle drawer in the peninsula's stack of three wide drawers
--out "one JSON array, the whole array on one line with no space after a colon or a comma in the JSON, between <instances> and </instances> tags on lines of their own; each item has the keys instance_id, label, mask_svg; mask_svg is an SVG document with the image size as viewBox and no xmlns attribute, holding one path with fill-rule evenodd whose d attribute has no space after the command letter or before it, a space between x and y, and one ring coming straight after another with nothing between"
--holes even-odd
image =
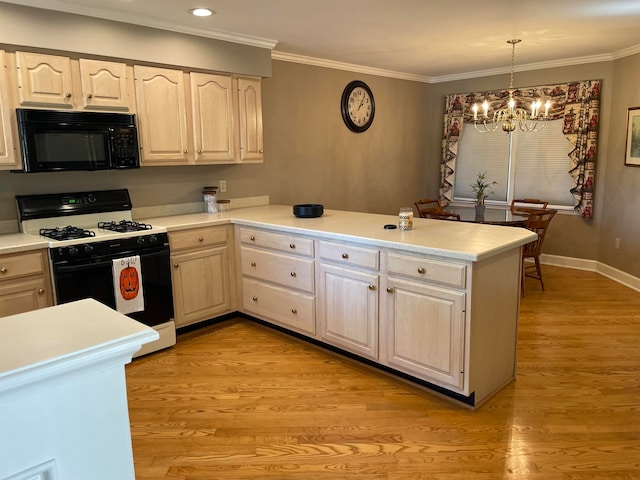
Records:
<instances>
[{"instance_id":1,"label":"middle drawer in the peninsula's stack of three wide drawers","mask_svg":"<svg viewBox=\"0 0 640 480\"><path fill-rule=\"evenodd\" d=\"M313 260L241 247L242 274L261 280L314 292Z\"/></svg>"}]
</instances>

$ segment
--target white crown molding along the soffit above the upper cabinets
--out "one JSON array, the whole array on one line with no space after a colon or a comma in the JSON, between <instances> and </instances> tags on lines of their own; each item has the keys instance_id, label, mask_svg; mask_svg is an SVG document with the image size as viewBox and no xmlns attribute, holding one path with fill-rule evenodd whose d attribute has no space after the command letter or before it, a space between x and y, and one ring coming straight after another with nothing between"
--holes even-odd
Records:
<instances>
[{"instance_id":1,"label":"white crown molding along the soffit above the upper cabinets","mask_svg":"<svg viewBox=\"0 0 640 480\"><path fill-rule=\"evenodd\" d=\"M241 35L237 33L224 32L220 30L211 30L204 28L192 28L175 25L169 22L163 22L157 19L144 17L141 15L133 15L130 12L125 12L115 8L109 7L108 11L101 8L92 8L83 5L69 5L58 0L2 0L4 3L12 3L15 5L21 5L25 7L41 8L44 10L53 10L56 12L72 13L75 15L83 15L94 18L101 18L103 20L111 20L121 23L129 23L133 25L140 25L144 27L157 28L159 30L166 30L175 33L184 33L187 35L195 35L198 37L212 38L214 40L222 40L225 42L239 43L242 45L248 45L252 47L268 48L272 50L277 44L277 40L271 40L268 38L254 37L252 35Z\"/></svg>"}]
</instances>

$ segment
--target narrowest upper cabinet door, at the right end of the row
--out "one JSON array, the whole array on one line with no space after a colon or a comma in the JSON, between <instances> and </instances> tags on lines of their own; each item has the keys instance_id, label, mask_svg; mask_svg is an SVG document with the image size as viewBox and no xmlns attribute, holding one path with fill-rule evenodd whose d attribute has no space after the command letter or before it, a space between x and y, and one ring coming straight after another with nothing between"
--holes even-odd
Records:
<instances>
[{"instance_id":1,"label":"narrowest upper cabinet door, at the right end of the row","mask_svg":"<svg viewBox=\"0 0 640 480\"><path fill-rule=\"evenodd\" d=\"M240 161L262 162L262 93L259 78L238 78Z\"/></svg>"}]
</instances>

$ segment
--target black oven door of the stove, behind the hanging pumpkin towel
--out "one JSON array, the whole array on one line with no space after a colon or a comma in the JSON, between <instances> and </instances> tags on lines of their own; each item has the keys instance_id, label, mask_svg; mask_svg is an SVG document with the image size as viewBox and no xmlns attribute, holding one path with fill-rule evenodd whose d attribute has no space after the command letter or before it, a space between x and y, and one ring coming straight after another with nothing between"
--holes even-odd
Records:
<instances>
[{"instance_id":1,"label":"black oven door of the stove, behind the hanging pumpkin towel","mask_svg":"<svg viewBox=\"0 0 640 480\"><path fill-rule=\"evenodd\" d=\"M53 265L58 303L93 298L114 308L112 259L136 255L123 253L77 265ZM150 327L173 318L169 251L140 255L144 311L127 314Z\"/></svg>"}]
</instances>

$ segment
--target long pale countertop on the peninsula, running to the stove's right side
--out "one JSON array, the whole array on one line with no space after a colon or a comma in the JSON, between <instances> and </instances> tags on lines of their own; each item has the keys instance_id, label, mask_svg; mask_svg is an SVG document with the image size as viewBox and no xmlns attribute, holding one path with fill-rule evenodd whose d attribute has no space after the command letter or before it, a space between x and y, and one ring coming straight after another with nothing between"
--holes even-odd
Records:
<instances>
[{"instance_id":1,"label":"long pale countertop on the peninsula, running to the stove's right side","mask_svg":"<svg viewBox=\"0 0 640 480\"><path fill-rule=\"evenodd\" d=\"M165 227L169 232L233 223L470 261L489 258L536 239L535 233L524 228L425 218L415 218L413 230L385 230L385 224L397 225L396 215L342 210L325 210L324 215L319 218L296 218L292 207L287 205L242 208L228 213L157 217L142 221Z\"/></svg>"}]
</instances>

